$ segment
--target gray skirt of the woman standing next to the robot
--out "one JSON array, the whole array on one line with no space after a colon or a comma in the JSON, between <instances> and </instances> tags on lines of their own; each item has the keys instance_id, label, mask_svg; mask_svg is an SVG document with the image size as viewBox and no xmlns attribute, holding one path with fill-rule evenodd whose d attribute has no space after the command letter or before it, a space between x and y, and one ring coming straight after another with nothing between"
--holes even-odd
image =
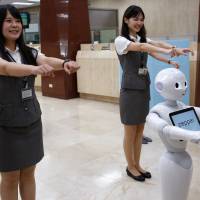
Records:
<instances>
[{"instance_id":1,"label":"gray skirt of the woman standing next to the robot","mask_svg":"<svg viewBox=\"0 0 200 200\"><path fill-rule=\"evenodd\" d=\"M120 118L125 125L139 125L149 113L150 90L121 89Z\"/></svg>"}]
</instances>

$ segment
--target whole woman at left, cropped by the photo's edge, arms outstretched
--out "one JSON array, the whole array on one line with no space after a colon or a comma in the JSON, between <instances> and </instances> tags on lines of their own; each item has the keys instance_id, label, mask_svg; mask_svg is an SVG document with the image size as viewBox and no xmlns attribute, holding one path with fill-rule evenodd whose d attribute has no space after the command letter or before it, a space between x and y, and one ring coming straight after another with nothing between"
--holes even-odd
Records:
<instances>
[{"instance_id":1,"label":"whole woman at left, cropped by the photo's edge, arms outstretched","mask_svg":"<svg viewBox=\"0 0 200 200\"><path fill-rule=\"evenodd\" d=\"M44 156L35 76L52 75L62 67L73 73L79 67L26 46L21 16L11 5L0 7L0 28L1 200L17 200L18 187L22 200L35 200L34 172Z\"/></svg>"}]
</instances>

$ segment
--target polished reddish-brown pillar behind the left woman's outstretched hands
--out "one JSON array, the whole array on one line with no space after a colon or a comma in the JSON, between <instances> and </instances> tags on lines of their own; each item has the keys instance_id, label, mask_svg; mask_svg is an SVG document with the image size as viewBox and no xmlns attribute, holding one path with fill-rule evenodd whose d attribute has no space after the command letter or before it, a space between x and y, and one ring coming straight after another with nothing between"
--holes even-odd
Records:
<instances>
[{"instance_id":1,"label":"polished reddish-brown pillar behind the left woman's outstretched hands","mask_svg":"<svg viewBox=\"0 0 200 200\"><path fill-rule=\"evenodd\" d=\"M81 43L90 43L87 0L40 1L41 50L46 56L75 60ZM42 93L64 99L78 97L76 74L63 70L42 77Z\"/></svg>"}]
</instances>

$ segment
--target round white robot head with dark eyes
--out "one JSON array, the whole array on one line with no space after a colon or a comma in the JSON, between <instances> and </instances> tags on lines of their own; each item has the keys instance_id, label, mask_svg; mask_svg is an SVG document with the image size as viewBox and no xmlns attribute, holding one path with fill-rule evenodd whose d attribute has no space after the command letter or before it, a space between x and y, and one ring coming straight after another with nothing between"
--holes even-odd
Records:
<instances>
[{"instance_id":1,"label":"round white robot head with dark eyes","mask_svg":"<svg viewBox=\"0 0 200 200\"><path fill-rule=\"evenodd\" d=\"M157 74L155 88L167 100L181 100L186 93L187 81L179 69L167 68Z\"/></svg>"}]
</instances>

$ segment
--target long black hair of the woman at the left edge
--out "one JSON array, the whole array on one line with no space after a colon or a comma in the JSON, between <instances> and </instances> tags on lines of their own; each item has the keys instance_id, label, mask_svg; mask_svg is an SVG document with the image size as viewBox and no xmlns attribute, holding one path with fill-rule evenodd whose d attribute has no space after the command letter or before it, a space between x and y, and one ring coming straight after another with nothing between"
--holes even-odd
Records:
<instances>
[{"instance_id":1,"label":"long black hair of the woman at the left edge","mask_svg":"<svg viewBox=\"0 0 200 200\"><path fill-rule=\"evenodd\" d=\"M0 6L0 51L2 53L2 58L9 60L5 50L5 37L3 35L3 23L7 16L7 12L9 12L14 18L19 19L21 24L22 18L19 11L14 6L9 4ZM20 52L26 61L29 64L36 65L36 61L31 50L32 48L28 47L24 42L23 31L21 32L19 38L16 40L16 44L19 46Z\"/></svg>"}]
</instances>

